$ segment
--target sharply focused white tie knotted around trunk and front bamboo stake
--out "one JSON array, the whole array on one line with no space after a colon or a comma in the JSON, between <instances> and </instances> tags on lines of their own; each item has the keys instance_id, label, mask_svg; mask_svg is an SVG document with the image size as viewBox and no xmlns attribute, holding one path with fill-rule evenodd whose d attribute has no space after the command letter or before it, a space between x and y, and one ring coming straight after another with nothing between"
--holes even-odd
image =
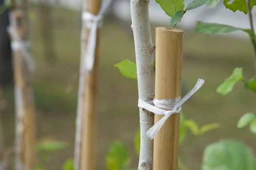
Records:
<instances>
[{"instance_id":1,"label":"sharply focused white tie knotted around trunk and front bamboo stake","mask_svg":"<svg viewBox=\"0 0 256 170\"><path fill-rule=\"evenodd\" d=\"M141 99L138 100L138 107L144 108L150 112L153 112L157 115L165 115L162 119L157 121L154 126L150 128L150 130L147 132L147 136L149 136L151 139L154 139L154 136L159 132L161 127L164 125L165 121L174 113L180 113L181 111L181 105L186 102L197 90L199 90L202 85L204 85L205 81L203 79L198 79L196 85L193 87L191 91L186 94L182 99L181 97L176 97L173 99L163 99L163 100L157 100L154 99L154 105L145 102ZM181 100L180 100L181 99ZM161 109L163 108L163 109ZM164 110L168 109L168 110Z\"/></svg>"}]
</instances>

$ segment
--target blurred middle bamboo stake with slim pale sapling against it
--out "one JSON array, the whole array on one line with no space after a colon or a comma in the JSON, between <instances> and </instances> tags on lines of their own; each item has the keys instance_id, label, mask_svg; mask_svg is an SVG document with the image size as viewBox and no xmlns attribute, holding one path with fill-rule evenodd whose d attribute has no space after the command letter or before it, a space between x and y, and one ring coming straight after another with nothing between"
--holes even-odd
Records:
<instances>
[{"instance_id":1,"label":"blurred middle bamboo stake with slim pale sapling against it","mask_svg":"<svg viewBox=\"0 0 256 170\"><path fill-rule=\"evenodd\" d=\"M87 2L87 3L86 3ZM97 15L101 7L101 0L84 0L84 12L88 11ZM86 27L85 21L82 25L81 34L81 58L85 55L87 40L90 30ZM91 71L83 73L83 66L80 67L79 88L83 92L79 94L77 134L75 146L75 170L95 170L96 163L96 120L97 120L97 79L99 60L99 34L97 31L97 45L95 52L94 66ZM83 62L81 62L83 63ZM81 82L85 81L85 82ZM81 85L85 85L81 87ZM81 112L81 113L80 113ZM81 115L81 116L80 116ZM80 120L79 120L80 119ZM79 122L82 121L82 122ZM80 136L81 133L81 138ZM81 140L81 141L80 141Z\"/></svg>"}]
</instances>

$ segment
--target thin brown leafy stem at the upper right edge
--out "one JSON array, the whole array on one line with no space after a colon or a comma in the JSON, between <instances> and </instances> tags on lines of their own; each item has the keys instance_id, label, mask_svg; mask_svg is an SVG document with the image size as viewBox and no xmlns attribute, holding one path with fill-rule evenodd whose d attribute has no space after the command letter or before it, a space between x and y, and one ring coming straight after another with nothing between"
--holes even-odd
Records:
<instances>
[{"instance_id":1,"label":"thin brown leafy stem at the upper right edge","mask_svg":"<svg viewBox=\"0 0 256 170\"><path fill-rule=\"evenodd\" d=\"M251 11L250 0L246 0L246 6L247 6L250 26L251 26L251 30L252 30L252 35L250 36L250 39L251 39L251 42L252 42L253 48L254 48L254 67L255 67L255 72L256 72L256 39L255 39L255 33L254 33L253 16L252 16L252 11Z\"/></svg>"}]
</instances>

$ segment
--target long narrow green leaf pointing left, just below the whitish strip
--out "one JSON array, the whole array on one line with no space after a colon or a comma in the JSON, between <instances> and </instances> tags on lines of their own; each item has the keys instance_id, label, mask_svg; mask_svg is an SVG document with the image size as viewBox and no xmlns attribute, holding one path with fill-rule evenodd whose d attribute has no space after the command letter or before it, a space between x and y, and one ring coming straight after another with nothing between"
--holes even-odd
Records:
<instances>
[{"instance_id":1,"label":"long narrow green leaf pointing left, just below the whitish strip","mask_svg":"<svg viewBox=\"0 0 256 170\"><path fill-rule=\"evenodd\" d=\"M252 31L249 29L242 29L217 23L206 23L198 21L195 27L195 32L197 33L225 34L233 31L243 31L250 36L252 35Z\"/></svg>"}]
</instances>

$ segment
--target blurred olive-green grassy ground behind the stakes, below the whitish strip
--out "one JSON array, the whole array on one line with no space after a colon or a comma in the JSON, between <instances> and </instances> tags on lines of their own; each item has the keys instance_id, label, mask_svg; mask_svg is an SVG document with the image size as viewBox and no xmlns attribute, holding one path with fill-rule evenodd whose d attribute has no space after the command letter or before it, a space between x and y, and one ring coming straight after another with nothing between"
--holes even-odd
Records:
<instances>
[{"instance_id":1,"label":"blurred olive-green grassy ground behind the stakes, below the whitish strip","mask_svg":"<svg viewBox=\"0 0 256 170\"><path fill-rule=\"evenodd\" d=\"M32 7L37 14L37 7ZM80 13L54 8L51 10L56 61L49 62L42 51L39 20L31 21L32 53L37 65L32 74L34 98L37 108L37 140L56 139L68 142L68 147L54 153L47 164L49 170L60 170L66 159L73 156L77 85L65 92L80 61ZM129 26L129 24L127 24ZM154 27L152 27L154 28ZM47 26L44 28L47 29ZM154 34L154 29L152 29ZM137 82L120 75L114 64L123 59L135 61L132 32L127 32L115 19L107 18L102 29L101 61L98 93L97 170L105 169L108 145L119 139L132 152L133 166L137 167L133 138L139 127L137 108ZM236 123L245 112L255 112L255 94L239 84L235 90L221 96L216 88L235 67L243 67L245 77L253 76L253 49L249 41L191 34L184 40L183 85L190 90L199 77L205 85L183 106L189 119L200 125L220 122L222 128L204 136L188 135L180 154L189 170L200 169L202 154L207 144L221 138L236 138L256 149L247 128L237 129ZM8 107L3 111L5 141L14 139L13 88L5 88Z\"/></svg>"}]
</instances>

